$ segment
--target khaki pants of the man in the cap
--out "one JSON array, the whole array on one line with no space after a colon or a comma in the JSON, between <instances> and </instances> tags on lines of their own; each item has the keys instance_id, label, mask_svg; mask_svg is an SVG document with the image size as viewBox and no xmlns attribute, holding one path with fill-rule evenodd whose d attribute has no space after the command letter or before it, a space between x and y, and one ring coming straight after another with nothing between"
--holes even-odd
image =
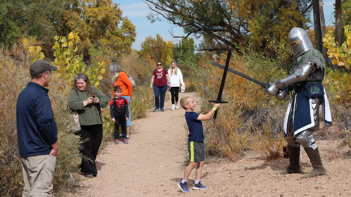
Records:
<instances>
[{"instance_id":1,"label":"khaki pants of the man in the cap","mask_svg":"<svg viewBox=\"0 0 351 197\"><path fill-rule=\"evenodd\" d=\"M24 189L22 197L51 197L56 156L22 157Z\"/></svg>"}]
</instances>

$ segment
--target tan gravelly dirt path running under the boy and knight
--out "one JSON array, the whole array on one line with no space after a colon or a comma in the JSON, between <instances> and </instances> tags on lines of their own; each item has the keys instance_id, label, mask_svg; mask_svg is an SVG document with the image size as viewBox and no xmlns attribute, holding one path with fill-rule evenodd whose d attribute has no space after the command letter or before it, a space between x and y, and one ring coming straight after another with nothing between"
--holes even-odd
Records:
<instances>
[{"instance_id":1,"label":"tan gravelly dirt path running under the boy and knight","mask_svg":"<svg viewBox=\"0 0 351 197\"><path fill-rule=\"evenodd\" d=\"M184 173L187 131L184 110L170 109L168 100L164 112L150 110L147 118L133 121L130 143L111 142L98 155L98 176L90 179L81 175L80 187L66 196L351 196L351 159L337 159L338 142L330 140L317 141L326 176L278 176L275 172L286 167L287 159L265 162L255 152L248 152L236 163L226 159L206 163L201 180L207 190L180 192L177 184ZM300 164L303 173L311 170L305 152ZM189 188L194 177L195 170L189 177Z\"/></svg>"}]
</instances>

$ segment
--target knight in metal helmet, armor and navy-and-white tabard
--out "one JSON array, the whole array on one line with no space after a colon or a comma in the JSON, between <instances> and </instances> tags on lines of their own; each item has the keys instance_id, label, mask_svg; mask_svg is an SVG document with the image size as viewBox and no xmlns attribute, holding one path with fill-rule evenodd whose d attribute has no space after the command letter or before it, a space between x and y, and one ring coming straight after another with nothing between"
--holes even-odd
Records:
<instances>
[{"instance_id":1,"label":"knight in metal helmet, armor and navy-and-white tabard","mask_svg":"<svg viewBox=\"0 0 351 197\"><path fill-rule=\"evenodd\" d=\"M292 91L292 98L284 118L284 138L289 150L290 164L277 174L299 173L300 145L310 158L313 169L301 178L325 175L318 147L313 139L313 132L319 129L319 115L324 106L324 122L329 127L331 122L329 102L322 81L324 79L325 60L322 54L313 48L311 39L302 28L294 27L289 33L290 46L296 57L290 75L282 80L276 79L267 89L267 93L279 100Z\"/></svg>"}]
</instances>

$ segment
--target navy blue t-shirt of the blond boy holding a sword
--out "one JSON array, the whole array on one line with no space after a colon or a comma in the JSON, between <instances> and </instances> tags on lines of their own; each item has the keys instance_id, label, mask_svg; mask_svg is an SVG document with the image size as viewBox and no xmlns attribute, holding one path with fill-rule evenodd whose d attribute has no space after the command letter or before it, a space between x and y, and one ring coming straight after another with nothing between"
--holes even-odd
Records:
<instances>
[{"instance_id":1,"label":"navy blue t-shirt of the blond boy holding a sword","mask_svg":"<svg viewBox=\"0 0 351 197\"><path fill-rule=\"evenodd\" d=\"M205 140L202 122L197 120L199 115L194 111L185 112L185 120L189 128L189 142L203 142Z\"/></svg>"}]
</instances>

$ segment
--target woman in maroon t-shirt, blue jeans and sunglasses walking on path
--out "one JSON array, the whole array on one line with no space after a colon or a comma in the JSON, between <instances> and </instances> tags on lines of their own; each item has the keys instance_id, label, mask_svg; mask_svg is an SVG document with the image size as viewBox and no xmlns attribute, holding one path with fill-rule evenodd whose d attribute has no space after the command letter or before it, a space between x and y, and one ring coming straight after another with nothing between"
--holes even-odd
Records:
<instances>
[{"instance_id":1,"label":"woman in maroon t-shirt, blue jeans and sunglasses walking on path","mask_svg":"<svg viewBox=\"0 0 351 197\"><path fill-rule=\"evenodd\" d=\"M168 82L168 84L167 84ZM165 111L163 109L165 103L165 94L167 88L170 88L170 77L168 76L167 69L162 68L162 62L157 62L157 69L153 70L151 83L150 83L150 90L154 88L155 93L155 109L153 111ZM159 96L161 98L159 99Z\"/></svg>"}]
</instances>

